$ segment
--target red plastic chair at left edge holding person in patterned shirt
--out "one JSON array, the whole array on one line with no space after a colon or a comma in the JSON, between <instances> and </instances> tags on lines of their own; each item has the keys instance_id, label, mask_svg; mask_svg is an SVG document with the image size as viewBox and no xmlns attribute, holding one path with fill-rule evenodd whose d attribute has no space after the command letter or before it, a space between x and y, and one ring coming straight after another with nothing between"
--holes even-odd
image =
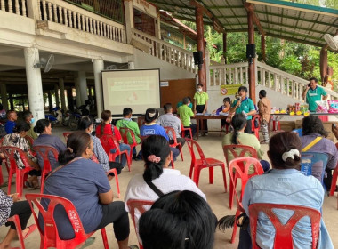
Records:
<instances>
[{"instance_id":1,"label":"red plastic chair at left edge holding person in patterned shirt","mask_svg":"<svg viewBox=\"0 0 338 249\"><path fill-rule=\"evenodd\" d=\"M19 193L19 197L22 197L22 190L23 190L23 182L27 180L27 174L33 168L28 164L28 160L26 157L25 152L22 149L14 146L3 146L1 148L2 152L4 153L4 157L7 158L8 162L10 163L10 172L8 173L8 191L7 194L11 194L11 186L12 186L12 176L16 174L16 192ZM21 158L23 165L25 168L19 169L18 165L16 164L16 160L14 158L14 153L18 152Z\"/></svg>"}]
</instances>

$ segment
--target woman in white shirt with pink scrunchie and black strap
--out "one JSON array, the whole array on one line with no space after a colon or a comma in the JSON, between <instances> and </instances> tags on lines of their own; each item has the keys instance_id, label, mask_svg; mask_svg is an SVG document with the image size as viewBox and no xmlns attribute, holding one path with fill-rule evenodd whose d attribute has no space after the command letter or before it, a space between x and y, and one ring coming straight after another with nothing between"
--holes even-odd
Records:
<instances>
[{"instance_id":1,"label":"woman in white shirt with pink scrunchie and black strap","mask_svg":"<svg viewBox=\"0 0 338 249\"><path fill-rule=\"evenodd\" d=\"M157 189L166 194L173 190L190 190L205 199L205 194L197 188L189 177L180 171L169 169L170 148L163 136L151 135L142 142L144 173L135 174L125 191L125 210L129 212L127 201L130 199L156 201L159 197L149 186L153 183ZM140 215L135 214L136 220Z\"/></svg>"}]
</instances>

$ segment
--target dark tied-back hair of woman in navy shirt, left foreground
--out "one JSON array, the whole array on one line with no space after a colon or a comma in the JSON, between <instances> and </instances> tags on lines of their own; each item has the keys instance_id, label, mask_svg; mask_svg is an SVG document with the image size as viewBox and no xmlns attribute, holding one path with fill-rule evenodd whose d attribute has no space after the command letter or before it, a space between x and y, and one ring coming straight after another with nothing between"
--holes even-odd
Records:
<instances>
[{"instance_id":1,"label":"dark tied-back hair of woman in navy shirt, left foreground","mask_svg":"<svg viewBox=\"0 0 338 249\"><path fill-rule=\"evenodd\" d=\"M84 150L89 147L91 136L84 131L76 131L68 136L67 149L60 152L58 160L61 165L65 165L75 157L80 157Z\"/></svg>"}]
</instances>

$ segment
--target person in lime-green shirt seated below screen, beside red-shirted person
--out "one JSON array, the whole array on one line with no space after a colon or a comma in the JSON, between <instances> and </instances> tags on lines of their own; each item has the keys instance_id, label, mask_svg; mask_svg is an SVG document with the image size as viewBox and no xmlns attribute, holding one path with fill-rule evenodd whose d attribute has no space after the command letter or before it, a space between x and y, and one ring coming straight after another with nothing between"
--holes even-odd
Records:
<instances>
[{"instance_id":1,"label":"person in lime-green shirt seated below screen, beside red-shirted person","mask_svg":"<svg viewBox=\"0 0 338 249\"><path fill-rule=\"evenodd\" d=\"M117 129L118 130L120 128L131 129L133 133L135 134L136 142L140 143L141 139L140 139L139 125L132 120L133 110L131 108L124 108L123 115L124 115L124 118L117 121L117 124L116 124ZM133 138L129 133L127 134L127 139L128 139L129 144L133 143ZM136 148L135 147L133 147L133 159L136 159Z\"/></svg>"}]
</instances>

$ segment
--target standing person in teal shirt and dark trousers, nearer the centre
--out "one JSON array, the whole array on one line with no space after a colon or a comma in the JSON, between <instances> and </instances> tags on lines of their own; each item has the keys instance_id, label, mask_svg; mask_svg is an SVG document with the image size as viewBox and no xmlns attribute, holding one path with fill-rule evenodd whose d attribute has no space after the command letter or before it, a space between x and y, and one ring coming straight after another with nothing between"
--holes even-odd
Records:
<instances>
[{"instance_id":1,"label":"standing person in teal shirt and dark trousers, nearer the centre","mask_svg":"<svg viewBox=\"0 0 338 249\"><path fill-rule=\"evenodd\" d=\"M239 98L232 102L230 113L242 113L246 116L246 127L245 133L253 133L252 131L252 119L253 115L257 113L256 108L254 108L254 101L246 97L247 88L246 86L240 86L238 88Z\"/></svg>"}]
</instances>

